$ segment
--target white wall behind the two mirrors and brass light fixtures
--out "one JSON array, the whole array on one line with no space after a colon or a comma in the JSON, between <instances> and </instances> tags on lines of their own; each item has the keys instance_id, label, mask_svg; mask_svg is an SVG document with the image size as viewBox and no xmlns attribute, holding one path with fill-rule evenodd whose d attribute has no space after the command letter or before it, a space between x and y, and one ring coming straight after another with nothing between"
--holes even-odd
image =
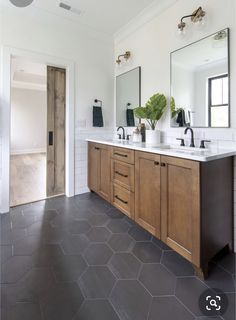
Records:
<instances>
[{"instance_id":1,"label":"white wall behind the two mirrors and brass light fixtures","mask_svg":"<svg viewBox=\"0 0 236 320\"><path fill-rule=\"evenodd\" d=\"M231 38L231 128L230 129L195 129L196 144L201 138L212 140L212 146L236 149L236 5L235 0L179 0L161 15L138 27L135 30L135 21L117 35L115 41L115 57L121 52L130 50L132 63L123 70L127 71L136 66L142 68L142 105L155 92L170 95L170 52L189 43L213 34L226 27L230 28ZM193 30L186 40L176 37L177 24L182 16L202 6L207 12L208 24L203 30ZM137 21L137 26L138 26ZM135 30L135 31L134 31ZM170 128L170 111L159 124L162 129L163 141L176 143L176 137L183 136L183 129ZM234 180L234 201L236 207L236 161ZM236 209L235 222L236 222ZM236 224L235 224L236 239ZM235 241L236 247L236 241Z\"/></svg>"}]
</instances>

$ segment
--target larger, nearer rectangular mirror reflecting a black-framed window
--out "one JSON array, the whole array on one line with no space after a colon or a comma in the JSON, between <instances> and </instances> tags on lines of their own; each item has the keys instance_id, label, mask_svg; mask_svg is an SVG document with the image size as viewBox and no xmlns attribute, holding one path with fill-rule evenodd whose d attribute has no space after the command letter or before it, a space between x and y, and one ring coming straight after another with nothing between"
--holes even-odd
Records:
<instances>
[{"instance_id":1,"label":"larger, nearer rectangular mirror reflecting a black-framed window","mask_svg":"<svg viewBox=\"0 0 236 320\"><path fill-rule=\"evenodd\" d=\"M171 126L229 127L229 76L229 29L172 52Z\"/></svg>"}]
</instances>

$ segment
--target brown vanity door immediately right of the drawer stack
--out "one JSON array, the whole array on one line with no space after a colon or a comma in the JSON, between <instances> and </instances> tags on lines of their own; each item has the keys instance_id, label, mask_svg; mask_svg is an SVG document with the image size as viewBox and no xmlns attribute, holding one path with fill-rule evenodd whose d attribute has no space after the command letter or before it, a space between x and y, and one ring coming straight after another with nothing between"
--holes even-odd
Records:
<instances>
[{"instance_id":1,"label":"brown vanity door immediately right of the drawer stack","mask_svg":"<svg viewBox=\"0 0 236 320\"><path fill-rule=\"evenodd\" d=\"M135 221L160 237L160 156L135 152Z\"/></svg>"}]
</instances>

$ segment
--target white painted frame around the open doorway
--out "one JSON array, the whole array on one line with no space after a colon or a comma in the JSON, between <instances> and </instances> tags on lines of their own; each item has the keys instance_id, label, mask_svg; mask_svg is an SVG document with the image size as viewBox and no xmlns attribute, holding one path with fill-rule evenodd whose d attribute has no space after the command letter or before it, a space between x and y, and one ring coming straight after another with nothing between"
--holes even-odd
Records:
<instances>
[{"instance_id":1,"label":"white painted frame around the open doorway","mask_svg":"<svg viewBox=\"0 0 236 320\"><path fill-rule=\"evenodd\" d=\"M30 61L66 69L66 186L67 197L75 194L75 63L64 58L45 55L12 47L2 47L1 50L1 87L0 87L0 121L2 136L2 180L0 186L0 213L10 209L10 144L11 144L11 58L23 57Z\"/></svg>"}]
</instances>

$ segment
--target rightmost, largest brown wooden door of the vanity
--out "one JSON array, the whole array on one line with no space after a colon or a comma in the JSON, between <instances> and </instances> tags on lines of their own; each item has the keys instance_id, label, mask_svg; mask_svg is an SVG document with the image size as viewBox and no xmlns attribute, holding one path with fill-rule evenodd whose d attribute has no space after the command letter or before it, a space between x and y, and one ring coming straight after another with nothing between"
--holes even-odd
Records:
<instances>
[{"instance_id":1,"label":"rightmost, largest brown wooden door of the vanity","mask_svg":"<svg viewBox=\"0 0 236 320\"><path fill-rule=\"evenodd\" d=\"M200 166L196 161L161 157L161 239L200 265Z\"/></svg>"}]
</instances>

